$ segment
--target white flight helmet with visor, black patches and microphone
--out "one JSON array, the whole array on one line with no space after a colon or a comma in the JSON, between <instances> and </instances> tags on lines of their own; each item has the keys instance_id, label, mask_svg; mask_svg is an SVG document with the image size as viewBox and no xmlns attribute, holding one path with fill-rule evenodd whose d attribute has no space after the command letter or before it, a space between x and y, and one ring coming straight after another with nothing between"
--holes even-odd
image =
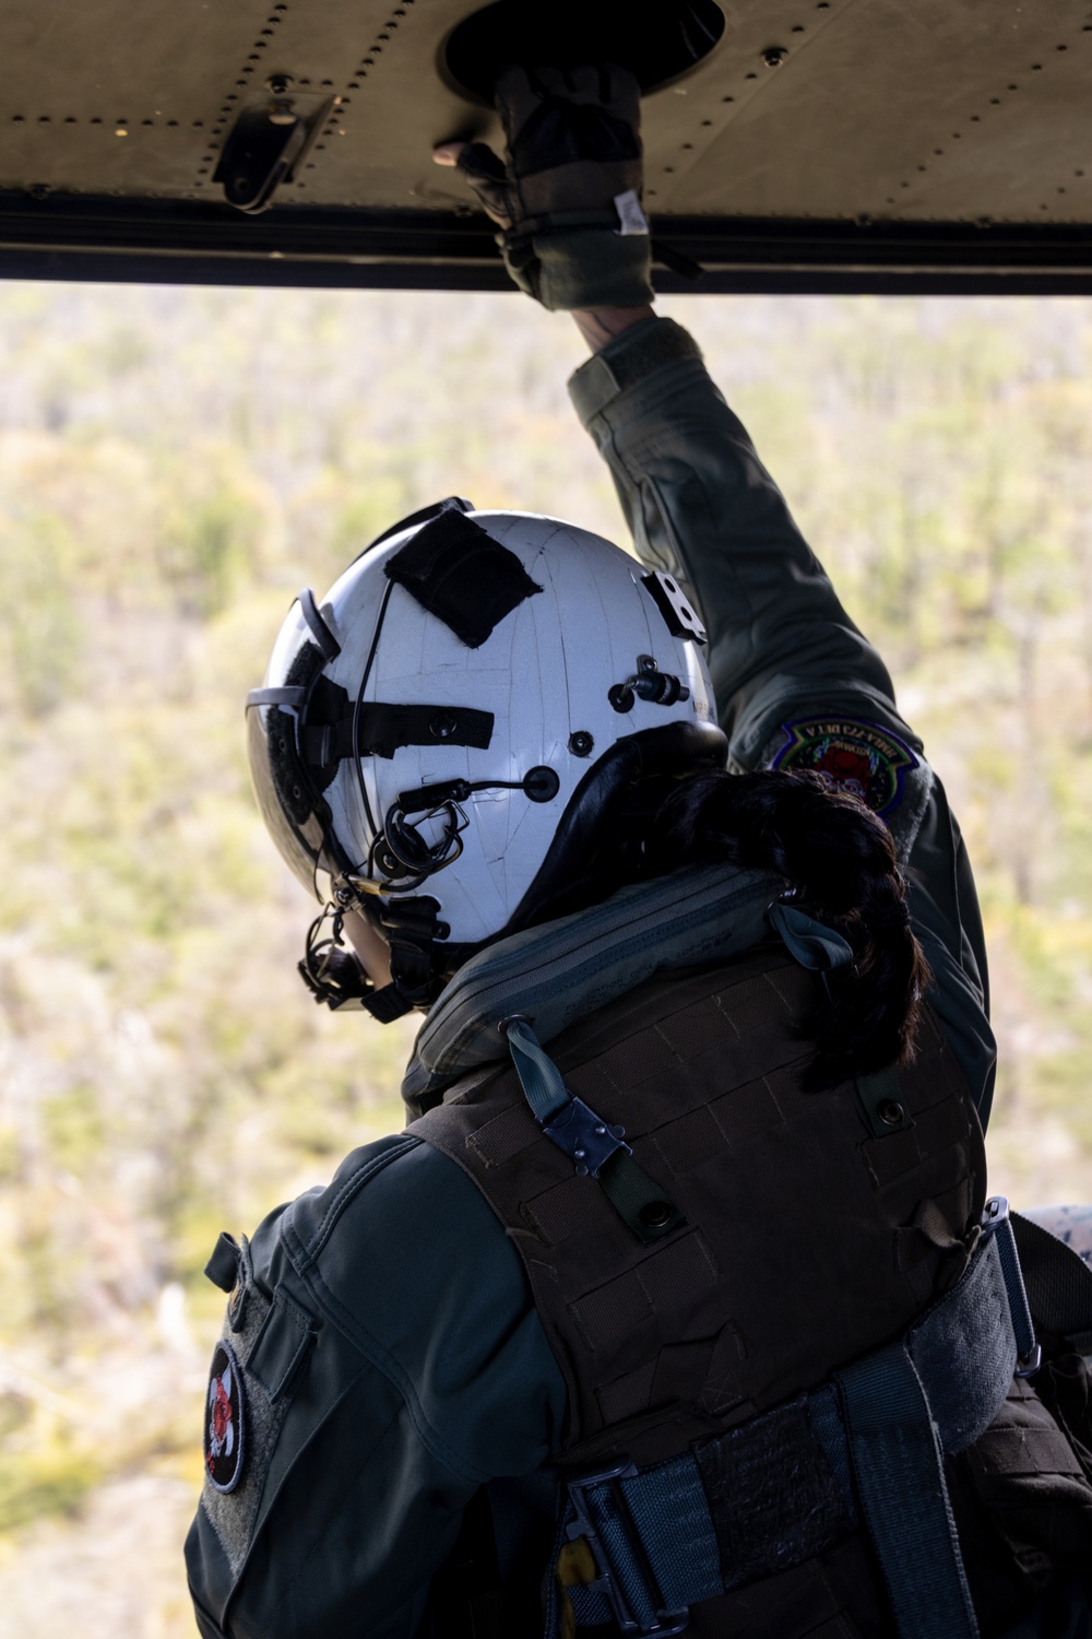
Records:
<instances>
[{"instance_id":1,"label":"white flight helmet with visor, black patches and microphone","mask_svg":"<svg viewBox=\"0 0 1092 1639\"><path fill-rule=\"evenodd\" d=\"M725 762L702 641L670 575L457 498L321 603L301 592L247 724L265 823L334 918L301 964L319 1000L396 1018L483 944L594 898L589 859L634 788ZM347 911L391 946L393 985L341 951Z\"/></svg>"}]
</instances>

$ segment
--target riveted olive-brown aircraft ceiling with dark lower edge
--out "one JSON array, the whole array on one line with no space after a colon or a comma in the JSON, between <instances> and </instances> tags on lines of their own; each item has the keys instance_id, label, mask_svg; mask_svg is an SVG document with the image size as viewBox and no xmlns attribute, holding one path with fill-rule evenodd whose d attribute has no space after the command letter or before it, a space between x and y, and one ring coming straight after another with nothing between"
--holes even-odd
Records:
<instances>
[{"instance_id":1,"label":"riveted olive-brown aircraft ceiling with dark lower edge","mask_svg":"<svg viewBox=\"0 0 1092 1639\"><path fill-rule=\"evenodd\" d=\"M512 3L560 26L557 0ZM504 11L478 10L5 0L0 275L504 288L490 223L429 159L499 146L467 82ZM645 203L704 267L693 288L1092 292L1092 0L573 11L575 54L599 25L670 80L643 105Z\"/></svg>"}]
</instances>

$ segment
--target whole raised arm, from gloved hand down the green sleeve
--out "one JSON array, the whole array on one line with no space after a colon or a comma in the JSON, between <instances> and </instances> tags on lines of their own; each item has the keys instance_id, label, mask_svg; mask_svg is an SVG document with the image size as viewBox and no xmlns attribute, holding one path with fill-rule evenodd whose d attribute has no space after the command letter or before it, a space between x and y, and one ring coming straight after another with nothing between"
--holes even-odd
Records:
<instances>
[{"instance_id":1,"label":"whole raised arm, from gloved hand down the green sleeve","mask_svg":"<svg viewBox=\"0 0 1092 1639\"><path fill-rule=\"evenodd\" d=\"M678 577L709 631L737 769L814 769L889 824L933 967L930 1000L982 1121L994 1087L986 947L943 787L891 675L842 608L694 339L652 308L640 102L616 69L509 70L508 156L442 144L501 228L516 284L593 349L570 390L611 467L639 557Z\"/></svg>"}]
</instances>

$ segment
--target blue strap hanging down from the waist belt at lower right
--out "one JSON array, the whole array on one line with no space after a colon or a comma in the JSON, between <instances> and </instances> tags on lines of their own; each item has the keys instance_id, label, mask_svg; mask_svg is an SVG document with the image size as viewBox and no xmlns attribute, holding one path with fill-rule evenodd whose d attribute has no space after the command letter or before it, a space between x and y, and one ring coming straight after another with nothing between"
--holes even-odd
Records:
<instances>
[{"instance_id":1,"label":"blue strap hanging down from the waist belt at lower right","mask_svg":"<svg viewBox=\"0 0 1092 1639\"><path fill-rule=\"evenodd\" d=\"M977 1639L928 1400L900 1342L837 1373L861 1513L900 1639Z\"/></svg>"}]
</instances>

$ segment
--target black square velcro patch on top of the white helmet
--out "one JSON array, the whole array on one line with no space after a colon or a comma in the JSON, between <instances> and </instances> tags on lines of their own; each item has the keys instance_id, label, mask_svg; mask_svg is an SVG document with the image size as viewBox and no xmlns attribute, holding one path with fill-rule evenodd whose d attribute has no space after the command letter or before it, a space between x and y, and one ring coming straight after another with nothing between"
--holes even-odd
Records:
<instances>
[{"instance_id":1,"label":"black square velcro patch on top of the white helmet","mask_svg":"<svg viewBox=\"0 0 1092 1639\"><path fill-rule=\"evenodd\" d=\"M468 649L480 649L506 615L542 592L514 552L458 511L442 511L417 529L386 575Z\"/></svg>"}]
</instances>

